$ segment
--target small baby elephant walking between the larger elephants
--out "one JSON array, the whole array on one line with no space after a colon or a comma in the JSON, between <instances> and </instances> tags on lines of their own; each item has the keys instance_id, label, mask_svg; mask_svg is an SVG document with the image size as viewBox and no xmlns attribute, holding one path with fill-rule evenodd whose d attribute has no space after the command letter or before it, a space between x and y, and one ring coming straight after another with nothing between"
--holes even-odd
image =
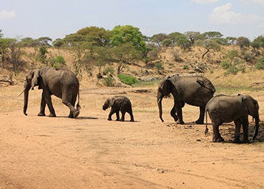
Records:
<instances>
[{"instance_id":1,"label":"small baby elephant walking between the larger elephants","mask_svg":"<svg viewBox=\"0 0 264 189\"><path fill-rule=\"evenodd\" d=\"M132 113L132 105L131 101L128 97L123 96L115 96L107 99L104 103L103 110L106 110L107 108L110 108L110 113L108 115L108 120L112 120L112 115L115 113L117 115L117 121L120 120L119 118L119 111L122 113L121 122L124 122L124 114L127 112L129 113L131 119L130 121L134 121L133 113Z\"/></svg>"}]
</instances>

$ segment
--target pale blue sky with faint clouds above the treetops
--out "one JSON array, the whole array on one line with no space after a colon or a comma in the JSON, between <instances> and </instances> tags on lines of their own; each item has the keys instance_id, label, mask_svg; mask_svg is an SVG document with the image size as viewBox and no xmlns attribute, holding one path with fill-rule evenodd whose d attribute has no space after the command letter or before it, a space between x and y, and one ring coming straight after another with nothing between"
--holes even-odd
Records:
<instances>
[{"instance_id":1,"label":"pale blue sky with faint clouds above the treetops","mask_svg":"<svg viewBox=\"0 0 264 189\"><path fill-rule=\"evenodd\" d=\"M4 38L65 38L81 28L131 25L143 35L219 31L264 35L264 0L0 0Z\"/></svg>"}]
</instances>

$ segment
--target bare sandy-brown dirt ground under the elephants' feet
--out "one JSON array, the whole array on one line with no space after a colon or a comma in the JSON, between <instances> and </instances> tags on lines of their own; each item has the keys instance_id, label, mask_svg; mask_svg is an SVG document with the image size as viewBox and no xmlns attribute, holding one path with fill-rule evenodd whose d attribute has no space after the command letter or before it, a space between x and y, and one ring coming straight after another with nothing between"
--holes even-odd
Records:
<instances>
[{"instance_id":1,"label":"bare sandy-brown dirt ground under the elephants' feet","mask_svg":"<svg viewBox=\"0 0 264 189\"><path fill-rule=\"evenodd\" d=\"M0 90L0 188L264 188L263 122L254 143L233 144L233 123L220 127L226 142L214 143L211 125L204 135L205 125L193 124L197 107L186 105L185 124L176 124L172 99L164 99L160 122L156 88L84 86L76 119L56 97L58 117L38 117L39 90L30 92L25 116L22 86ZM131 99L135 122L107 120L101 106L115 94ZM251 140L254 122L249 130Z\"/></svg>"}]
</instances>

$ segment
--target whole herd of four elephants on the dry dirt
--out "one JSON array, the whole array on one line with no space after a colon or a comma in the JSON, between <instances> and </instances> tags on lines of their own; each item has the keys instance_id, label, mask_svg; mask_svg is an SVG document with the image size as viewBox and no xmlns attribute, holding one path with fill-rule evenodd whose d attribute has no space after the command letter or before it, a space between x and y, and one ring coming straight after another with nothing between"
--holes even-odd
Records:
<instances>
[{"instance_id":1,"label":"whole herd of four elephants on the dry dirt","mask_svg":"<svg viewBox=\"0 0 264 189\"><path fill-rule=\"evenodd\" d=\"M28 91L38 86L42 89L42 99L40 103L39 116L45 116L44 109L46 105L49 108L49 116L56 117L55 110L52 105L51 95L62 99L63 104L69 108L70 118L78 117L81 106L79 105L79 81L75 74L69 69L54 69L51 67L44 67L42 69L34 69L28 72L26 81L24 83L24 115L28 106ZM162 117L162 100L170 94L174 97L174 106L170 111L170 115L175 122L184 124L182 108L185 103L191 106L199 106L199 118L196 124L204 124L204 115L206 114L206 131L207 128L207 113L211 118L213 125L213 142L223 142L224 139L220 135L219 126L224 122L234 122L236 125L235 139L233 142L240 141L240 127L242 124L243 140L242 142L249 142L249 115L255 119L255 133L253 140L258 135L258 101L249 95L229 96L220 94L213 96L215 87L204 76L166 76L158 85L157 103L159 110L159 117L164 122ZM75 103L78 98L76 108ZM134 121L131 101L127 97L115 96L106 99L103 110L111 108L108 115L108 120L112 120L112 115L116 114L117 119L124 121L125 113L129 113L131 122ZM122 113L119 118L119 111Z\"/></svg>"}]
</instances>

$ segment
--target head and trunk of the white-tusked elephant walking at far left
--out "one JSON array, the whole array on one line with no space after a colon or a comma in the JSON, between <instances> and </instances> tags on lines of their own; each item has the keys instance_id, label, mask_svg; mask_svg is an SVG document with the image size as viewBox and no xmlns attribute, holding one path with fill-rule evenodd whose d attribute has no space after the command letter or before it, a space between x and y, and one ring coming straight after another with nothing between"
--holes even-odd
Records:
<instances>
[{"instance_id":1,"label":"head and trunk of the white-tusked elephant walking at far left","mask_svg":"<svg viewBox=\"0 0 264 189\"><path fill-rule=\"evenodd\" d=\"M28 108L28 92L30 89L34 89L36 85L40 85L40 70L34 69L28 72L26 76L26 81L24 83L24 108L23 113L27 115L26 109Z\"/></svg>"}]
</instances>

